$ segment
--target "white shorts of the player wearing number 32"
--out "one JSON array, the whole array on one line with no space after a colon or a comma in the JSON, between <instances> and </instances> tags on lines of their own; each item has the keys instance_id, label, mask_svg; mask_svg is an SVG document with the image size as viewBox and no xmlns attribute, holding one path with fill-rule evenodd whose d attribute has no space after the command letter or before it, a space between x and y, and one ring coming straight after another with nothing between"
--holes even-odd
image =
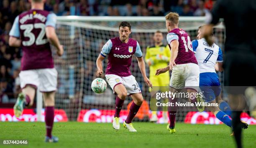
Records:
<instances>
[{"instance_id":1,"label":"white shorts of the player wearing number 32","mask_svg":"<svg viewBox=\"0 0 256 148\"><path fill-rule=\"evenodd\" d=\"M38 87L40 92L51 92L57 89L57 75L55 68L52 69L31 69L20 71L20 87L33 85Z\"/></svg>"}]
</instances>

